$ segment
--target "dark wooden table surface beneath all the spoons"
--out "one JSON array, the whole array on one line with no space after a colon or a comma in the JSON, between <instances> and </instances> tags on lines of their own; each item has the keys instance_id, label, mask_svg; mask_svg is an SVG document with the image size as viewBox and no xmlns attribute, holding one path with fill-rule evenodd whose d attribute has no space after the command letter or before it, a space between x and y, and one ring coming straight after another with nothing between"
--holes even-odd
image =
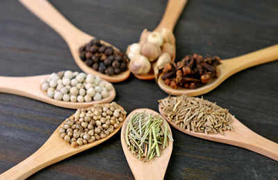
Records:
<instances>
[{"instance_id":1,"label":"dark wooden table surface beneath all the spoons","mask_svg":"<svg viewBox=\"0 0 278 180\"><path fill-rule=\"evenodd\" d=\"M125 51L144 28L152 30L167 1L51 0L74 25ZM278 1L189 0L174 34L177 60L199 53L236 57L278 43ZM65 41L18 1L0 5L0 75L41 75L70 69ZM254 132L278 143L278 62L255 66L204 95L228 108ZM115 84L115 101L126 111L158 111L167 96L154 81L133 76ZM0 173L38 150L65 118L74 113L0 93ZM172 128L174 148L165 179L278 179L278 163L255 152L206 141ZM50 165L29 179L133 179L120 133L105 143Z\"/></svg>"}]
</instances>

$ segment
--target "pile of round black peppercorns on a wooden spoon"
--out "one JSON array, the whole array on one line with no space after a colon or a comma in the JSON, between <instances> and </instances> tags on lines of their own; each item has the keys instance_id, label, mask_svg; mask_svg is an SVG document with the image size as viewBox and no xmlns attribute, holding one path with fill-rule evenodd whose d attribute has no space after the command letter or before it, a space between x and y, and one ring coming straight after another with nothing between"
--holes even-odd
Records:
<instances>
[{"instance_id":1,"label":"pile of round black peppercorns on a wooden spoon","mask_svg":"<svg viewBox=\"0 0 278 180\"><path fill-rule=\"evenodd\" d=\"M106 75L116 75L126 71L129 63L124 53L102 44L99 39L92 39L81 46L79 55L87 66Z\"/></svg>"}]
</instances>

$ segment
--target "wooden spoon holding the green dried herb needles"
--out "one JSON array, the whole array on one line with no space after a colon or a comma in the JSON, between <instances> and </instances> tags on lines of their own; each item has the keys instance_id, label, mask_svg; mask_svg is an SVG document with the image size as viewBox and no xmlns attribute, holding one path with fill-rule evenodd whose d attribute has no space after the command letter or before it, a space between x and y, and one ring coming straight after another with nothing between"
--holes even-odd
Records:
<instances>
[{"instance_id":1,"label":"wooden spoon holding the green dried herb needles","mask_svg":"<svg viewBox=\"0 0 278 180\"><path fill-rule=\"evenodd\" d=\"M122 150L124 150L126 161L129 163L129 167L131 168L132 174L135 177L135 179L142 179L142 180L163 179L173 149L172 141L168 140L168 146L165 148L165 150L161 150L160 157L154 157L154 159L147 162L140 161L139 159L136 158L134 154L131 153L130 150L127 149L126 140L124 138L124 132L126 132L127 123L129 122L129 119L133 116L133 114L142 111L161 116L161 114L158 114L156 111L153 111L151 109L136 109L132 111L124 121L124 125L122 125L122 131L121 131ZM163 116L161 116L161 118L163 118ZM167 123L167 121L165 120L164 123ZM168 131L172 136L171 128L168 125L168 123L167 123L167 127L168 127Z\"/></svg>"}]
</instances>

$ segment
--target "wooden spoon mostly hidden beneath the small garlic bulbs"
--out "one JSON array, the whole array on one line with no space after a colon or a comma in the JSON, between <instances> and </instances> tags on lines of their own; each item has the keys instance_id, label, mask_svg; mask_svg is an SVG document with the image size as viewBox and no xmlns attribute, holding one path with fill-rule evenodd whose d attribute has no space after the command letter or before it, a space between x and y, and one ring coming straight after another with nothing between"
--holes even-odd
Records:
<instances>
[{"instance_id":1,"label":"wooden spoon mostly hidden beneath the small garlic bulbs","mask_svg":"<svg viewBox=\"0 0 278 180\"><path fill-rule=\"evenodd\" d=\"M154 31L161 30L162 28L167 28L173 31L174 26L176 25L177 20L179 19L179 15L181 15L181 12L184 6L186 6L187 1L188 0L168 0L166 10L161 19L161 22L158 24ZM174 55L172 57L172 62L174 62L174 59L176 58L176 44L174 43L172 45L174 46ZM153 80L155 78L154 71L149 71L149 73L147 74L134 75L136 76L136 78L140 80Z\"/></svg>"}]
</instances>

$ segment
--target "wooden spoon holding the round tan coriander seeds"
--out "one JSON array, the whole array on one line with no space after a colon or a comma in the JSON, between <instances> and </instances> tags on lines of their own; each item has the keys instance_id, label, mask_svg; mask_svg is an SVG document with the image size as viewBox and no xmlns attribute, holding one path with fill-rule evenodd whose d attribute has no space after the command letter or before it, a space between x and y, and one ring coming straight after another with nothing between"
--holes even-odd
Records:
<instances>
[{"instance_id":1,"label":"wooden spoon holding the round tan coriander seeds","mask_svg":"<svg viewBox=\"0 0 278 180\"><path fill-rule=\"evenodd\" d=\"M119 105L117 106L120 107ZM122 107L120 108L124 110ZM126 116L124 115L124 119L125 118ZM108 140L108 138L111 138L114 134L116 134L122 127L122 124L123 123L120 123L120 127L115 129L106 138L101 138L86 145L72 147L70 143L67 143L63 138L60 137L59 129L61 125L63 125L62 123L38 151L21 163L15 165L13 168L10 168L10 170L0 174L0 179L26 179L48 165L57 163L58 161L66 159L67 157L103 143L104 141Z\"/></svg>"}]
</instances>

